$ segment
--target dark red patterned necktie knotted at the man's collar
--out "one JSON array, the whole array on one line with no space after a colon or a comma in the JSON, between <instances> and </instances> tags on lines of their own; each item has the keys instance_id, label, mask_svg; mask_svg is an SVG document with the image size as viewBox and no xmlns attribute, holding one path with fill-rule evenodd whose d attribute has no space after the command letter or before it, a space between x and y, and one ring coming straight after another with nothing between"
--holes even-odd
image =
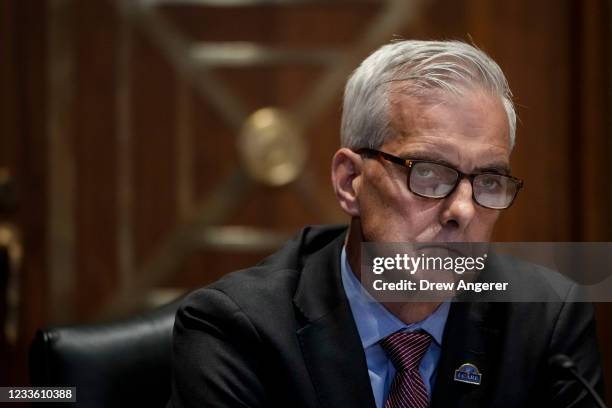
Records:
<instances>
[{"instance_id":1,"label":"dark red patterned necktie knotted at the man's collar","mask_svg":"<svg viewBox=\"0 0 612 408\"><path fill-rule=\"evenodd\" d=\"M419 365L431 343L426 332L395 332L380 341L396 373L385 408L425 408L429 405L427 388Z\"/></svg>"}]
</instances>

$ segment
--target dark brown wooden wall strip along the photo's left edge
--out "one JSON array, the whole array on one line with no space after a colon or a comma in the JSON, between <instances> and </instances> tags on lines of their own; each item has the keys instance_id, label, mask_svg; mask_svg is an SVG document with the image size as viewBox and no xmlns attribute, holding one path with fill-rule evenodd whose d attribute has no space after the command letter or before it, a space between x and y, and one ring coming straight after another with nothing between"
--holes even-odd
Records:
<instances>
[{"instance_id":1,"label":"dark brown wooden wall strip along the photo's left edge","mask_svg":"<svg viewBox=\"0 0 612 408\"><path fill-rule=\"evenodd\" d=\"M44 5L43 5L44 6ZM11 170L18 194L14 213L1 214L21 232L25 257L17 344L0 351L3 384L26 384L25 356L36 328L48 320L46 248L45 9L39 2L0 5L0 166Z\"/></svg>"}]
</instances>

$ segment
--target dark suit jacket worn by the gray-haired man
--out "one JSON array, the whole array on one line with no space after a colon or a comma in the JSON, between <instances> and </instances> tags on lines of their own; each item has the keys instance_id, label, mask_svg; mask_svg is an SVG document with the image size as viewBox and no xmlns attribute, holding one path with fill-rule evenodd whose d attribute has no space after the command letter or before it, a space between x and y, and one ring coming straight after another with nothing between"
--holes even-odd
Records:
<instances>
[{"instance_id":1,"label":"dark suit jacket worn by the gray-haired man","mask_svg":"<svg viewBox=\"0 0 612 408\"><path fill-rule=\"evenodd\" d=\"M192 293L176 317L169 406L374 407L340 278L344 235L305 228L259 265ZM557 353L602 391L590 304L453 303L431 406L593 406L549 367ZM465 362L481 385L453 380Z\"/></svg>"}]
</instances>

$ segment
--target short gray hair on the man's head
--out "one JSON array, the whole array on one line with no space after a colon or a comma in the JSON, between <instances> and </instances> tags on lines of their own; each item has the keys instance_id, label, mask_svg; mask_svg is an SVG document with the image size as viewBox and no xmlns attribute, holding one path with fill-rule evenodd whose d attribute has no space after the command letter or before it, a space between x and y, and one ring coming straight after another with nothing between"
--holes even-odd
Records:
<instances>
[{"instance_id":1,"label":"short gray hair on the man's head","mask_svg":"<svg viewBox=\"0 0 612 408\"><path fill-rule=\"evenodd\" d=\"M352 73L344 90L343 147L378 148L390 136L388 97L391 83L405 81L406 91L424 95L440 89L461 95L479 86L499 95L508 116L514 146L516 113L501 68L487 54L461 41L398 41L384 45Z\"/></svg>"}]
</instances>

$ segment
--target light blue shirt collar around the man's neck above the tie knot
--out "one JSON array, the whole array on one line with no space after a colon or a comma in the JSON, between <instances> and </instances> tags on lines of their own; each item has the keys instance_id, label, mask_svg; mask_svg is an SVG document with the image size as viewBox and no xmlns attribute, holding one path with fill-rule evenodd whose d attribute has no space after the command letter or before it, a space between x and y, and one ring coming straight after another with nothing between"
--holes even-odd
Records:
<instances>
[{"instance_id":1,"label":"light blue shirt collar around the man's neck above the tie knot","mask_svg":"<svg viewBox=\"0 0 612 408\"><path fill-rule=\"evenodd\" d=\"M442 335L448 317L450 304L442 303L425 319L417 323L405 324L378 303L361 285L346 256L346 247L340 254L342 285L353 312L363 348L377 344L381 339L399 330L424 330L438 345L442 345Z\"/></svg>"}]
</instances>

